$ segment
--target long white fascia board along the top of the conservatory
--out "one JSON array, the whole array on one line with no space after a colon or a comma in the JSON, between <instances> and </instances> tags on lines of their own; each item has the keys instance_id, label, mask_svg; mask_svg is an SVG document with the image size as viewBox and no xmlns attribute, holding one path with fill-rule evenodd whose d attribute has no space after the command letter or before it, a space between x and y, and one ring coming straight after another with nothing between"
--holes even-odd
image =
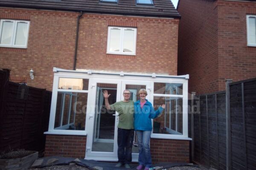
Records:
<instances>
[{"instance_id":1,"label":"long white fascia board along the top of the conservatory","mask_svg":"<svg viewBox=\"0 0 256 170\"><path fill-rule=\"evenodd\" d=\"M189 74L182 76L171 76L165 74L142 74L142 73L125 73L123 71L107 72L107 71L91 71L91 70L65 70L62 68L53 68L54 72L66 72L66 73L83 73L83 74L102 74L102 75L119 75L119 76L137 76L137 77L161 77L161 78L177 78L177 79L189 79Z\"/></svg>"}]
</instances>

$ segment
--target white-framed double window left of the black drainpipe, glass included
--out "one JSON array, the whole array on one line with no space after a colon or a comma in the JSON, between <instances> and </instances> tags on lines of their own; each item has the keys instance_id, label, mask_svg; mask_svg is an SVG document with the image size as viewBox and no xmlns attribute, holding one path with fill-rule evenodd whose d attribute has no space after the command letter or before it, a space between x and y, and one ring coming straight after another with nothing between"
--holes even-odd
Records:
<instances>
[{"instance_id":1,"label":"white-framed double window left of the black drainpipe, glass included","mask_svg":"<svg viewBox=\"0 0 256 170\"><path fill-rule=\"evenodd\" d=\"M29 21L1 20L0 46L27 48Z\"/></svg>"}]
</instances>

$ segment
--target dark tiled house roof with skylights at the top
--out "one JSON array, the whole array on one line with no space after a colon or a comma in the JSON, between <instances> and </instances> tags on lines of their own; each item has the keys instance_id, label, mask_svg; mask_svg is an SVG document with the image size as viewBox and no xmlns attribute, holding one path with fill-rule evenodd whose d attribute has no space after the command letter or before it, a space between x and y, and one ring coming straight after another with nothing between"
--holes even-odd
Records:
<instances>
[{"instance_id":1,"label":"dark tiled house roof with skylights at the top","mask_svg":"<svg viewBox=\"0 0 256 170\"><path fill-rule=\"evenodd\" d=\"M1 7L180 18L171 0L153 0L153 3L154 5L139 5L136 0L117 0L117 3L100 0L0 0Z\"/></svg>"}]
</instances>

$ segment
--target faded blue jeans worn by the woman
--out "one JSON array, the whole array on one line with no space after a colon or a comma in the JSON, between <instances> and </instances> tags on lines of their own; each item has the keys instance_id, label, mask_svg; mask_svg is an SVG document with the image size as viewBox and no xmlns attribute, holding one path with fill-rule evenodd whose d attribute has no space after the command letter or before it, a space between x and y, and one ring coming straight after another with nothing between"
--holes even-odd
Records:
<instances>
[{"instance_id":1,"label":"faded blue jeans worn by the woman","mask_svg":"<svg viewBox=\"0 0 256 170\"><path fill-rule=\"evenodd\" d=\"M151 153L150 153L150 135L151 131L136 130L138 142L139 142L139 164L145 167L151 167Z\"/></svg>"}]
</instances>

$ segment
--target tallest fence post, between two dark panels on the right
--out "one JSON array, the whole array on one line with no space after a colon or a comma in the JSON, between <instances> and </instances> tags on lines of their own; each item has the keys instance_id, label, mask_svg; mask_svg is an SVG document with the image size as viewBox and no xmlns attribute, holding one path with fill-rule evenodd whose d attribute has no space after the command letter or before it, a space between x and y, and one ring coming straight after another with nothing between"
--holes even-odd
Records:
<instances>
[{"instance_id":1,"label":"tallest fence post, between two dark panels on the right","mask_svg":"<svg viewBox=\"0 0 256 170\"><path fill-rule=\"evenodd\" d=\"M227 148L227 170L231 170L231 124L230 124L230 86L232 79L226 79L226 148Z\"/></svg>"}]
</instances>

